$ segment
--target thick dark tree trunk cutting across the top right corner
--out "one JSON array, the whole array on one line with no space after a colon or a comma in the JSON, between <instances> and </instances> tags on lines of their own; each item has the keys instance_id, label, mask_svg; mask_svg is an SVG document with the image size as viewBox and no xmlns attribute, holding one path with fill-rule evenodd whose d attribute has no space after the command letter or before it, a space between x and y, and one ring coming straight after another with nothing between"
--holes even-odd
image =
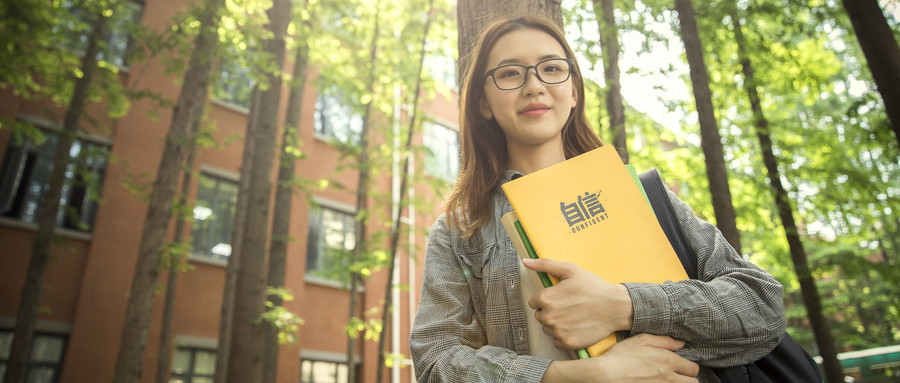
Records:
<instances>
[{"instance_id":1,"label":"thick dark tree trunk cutting across the top right corner","mask_svg":"<svg viewBox=\"0 0 900 383\"><path fill-rule=\"evenodd\" d=\"M900 47L877 0L842 0L900 145Z\"/></svg>"}]
</instances>

